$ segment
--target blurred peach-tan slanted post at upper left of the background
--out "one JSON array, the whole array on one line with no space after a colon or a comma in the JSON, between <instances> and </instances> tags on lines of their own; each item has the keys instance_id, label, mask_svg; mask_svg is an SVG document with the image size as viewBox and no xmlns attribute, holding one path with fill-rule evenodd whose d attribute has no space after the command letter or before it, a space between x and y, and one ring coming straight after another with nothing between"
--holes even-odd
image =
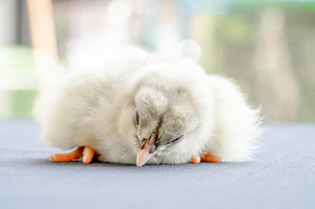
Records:
<instances>
[{"instance_id":1,"label":"blurred peach-tan slanted post at upper left of the background","mask_svg":"<svg viewBox=\"0 0 315 209\"><path fill-rule=\"evenodd\" d=\"M27 0L33 48L58 58L51 0Z\"/></svg>"}]
</instances>

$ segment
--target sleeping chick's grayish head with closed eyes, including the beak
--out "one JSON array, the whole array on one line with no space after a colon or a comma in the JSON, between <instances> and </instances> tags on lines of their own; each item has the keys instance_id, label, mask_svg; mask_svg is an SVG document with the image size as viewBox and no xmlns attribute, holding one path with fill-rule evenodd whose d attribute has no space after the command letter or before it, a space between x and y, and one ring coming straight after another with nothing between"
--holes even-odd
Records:
<instances>
[{"instance_id":1,"label":"sleeping chick's grayish head with closed eyes, including the beak","mask_svg":"<svg viewBox=\"0 0 315 209\"><path fill-rule=\"evenodd\" d=\"M161 78L147 79L134 98L134 125L137 129L137 166L156 153L185 140L198 123L194 98L187 86Z\"/></svg>"}]
</instances>

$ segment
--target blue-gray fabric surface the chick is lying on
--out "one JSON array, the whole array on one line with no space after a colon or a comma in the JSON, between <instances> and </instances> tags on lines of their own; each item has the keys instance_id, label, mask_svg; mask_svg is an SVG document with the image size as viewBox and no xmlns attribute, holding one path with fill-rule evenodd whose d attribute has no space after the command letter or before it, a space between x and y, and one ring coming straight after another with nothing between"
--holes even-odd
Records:
<instances>
[{"instance_id":1,"label":"blue-gray fabric surface the chick is lying on","mask_svg":"<svg viewBox=\"0 0 315 209\"><path fill-rule=\"evenodd\" d=\"M315 125L267 126L255 161L51 162L32 121L0 121L0 208L315 208Z\"/></svg>"}]
</instances>

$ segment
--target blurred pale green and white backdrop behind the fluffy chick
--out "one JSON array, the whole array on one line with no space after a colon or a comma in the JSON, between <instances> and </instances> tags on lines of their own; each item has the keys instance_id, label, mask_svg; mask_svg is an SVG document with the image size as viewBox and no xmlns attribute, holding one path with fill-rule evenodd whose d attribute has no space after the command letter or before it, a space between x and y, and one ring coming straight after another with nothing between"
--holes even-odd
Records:
<instances>
[{"instance_id":1,"label":"blurred pale green and white backdrop behind the fluffy chick","mask_svg":"<svg viewBox=\"0 0 315 209\"><path fill-rule=\"evenodd\" d=\"M0 0L0 119L31 118L47 85L114 50L166 51L184 39L267 122L314 122L315 0Z\"/></svg>"}]
</instances>

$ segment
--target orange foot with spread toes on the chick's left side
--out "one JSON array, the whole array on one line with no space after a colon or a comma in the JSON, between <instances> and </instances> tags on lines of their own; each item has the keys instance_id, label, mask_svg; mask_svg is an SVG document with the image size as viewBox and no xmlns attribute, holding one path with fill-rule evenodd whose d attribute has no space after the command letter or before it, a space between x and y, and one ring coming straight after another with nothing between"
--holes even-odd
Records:
<instances>
[{"instance_id":1,"label":"orange foot with spread toes on the chick's left side","mask_svg":"<svg viewBox=\"0 0 315 209\"><path fill-rule=\"evenodd\" d=\"M84 163L90 163L94 155L95 151L92 147L82 146L76 148L72 152L50 155L47 159L50 158L53 162L69 162L82 157Z\"/></svg>"}]
</instances>

